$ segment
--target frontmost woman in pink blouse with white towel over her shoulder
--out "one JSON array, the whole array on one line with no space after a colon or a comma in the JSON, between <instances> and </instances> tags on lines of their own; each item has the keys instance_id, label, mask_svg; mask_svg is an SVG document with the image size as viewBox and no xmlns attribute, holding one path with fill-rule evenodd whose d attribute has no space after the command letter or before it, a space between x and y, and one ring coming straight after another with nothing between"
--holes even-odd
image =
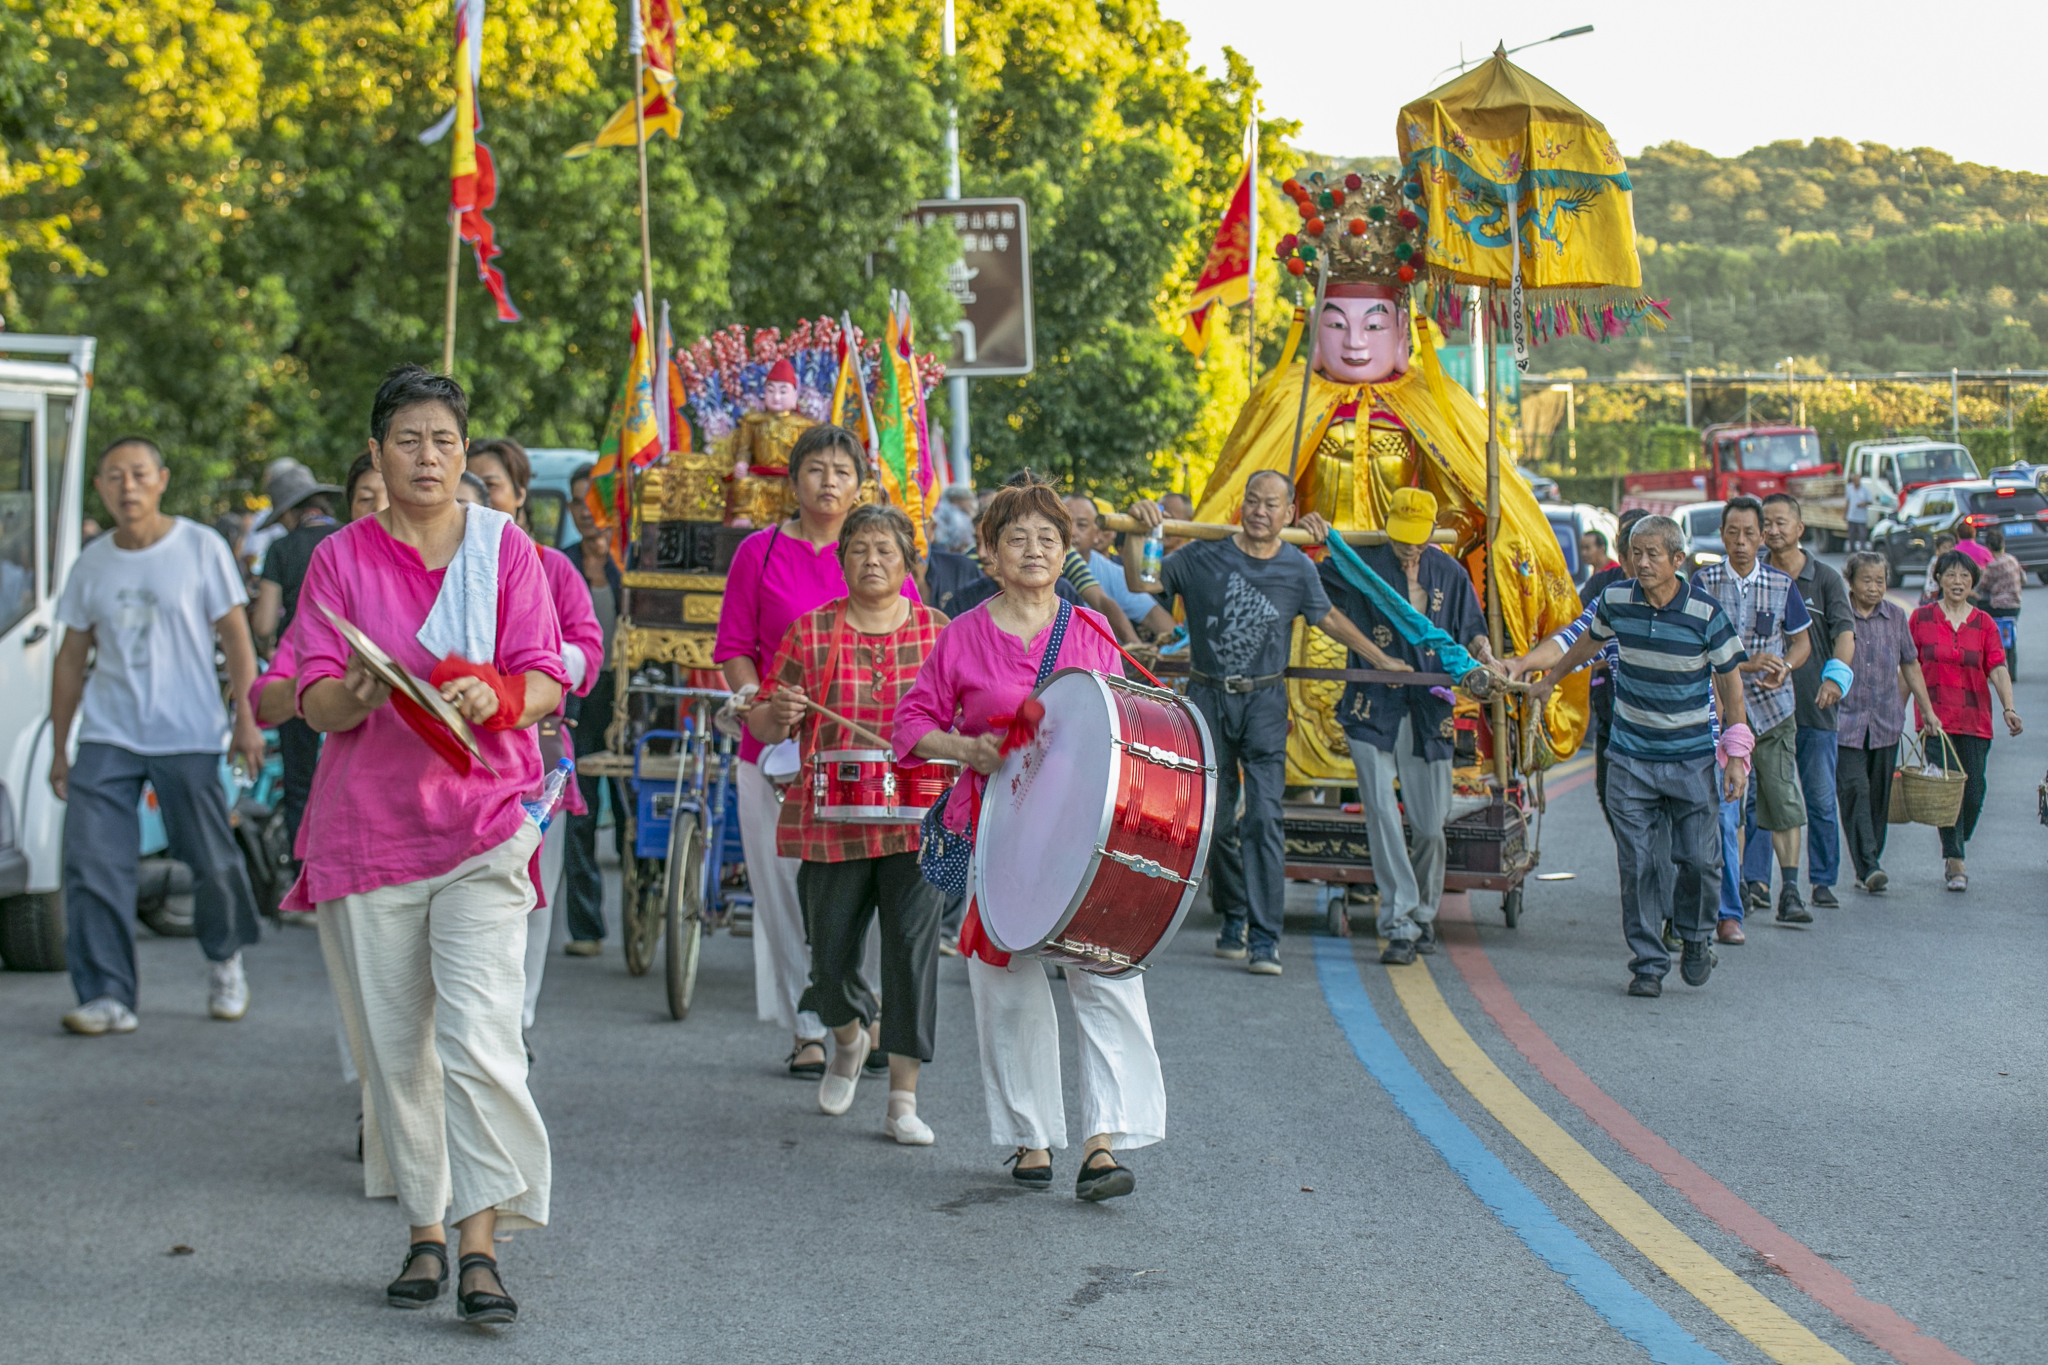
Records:
<instances>
[{"instance_id":1,"label":"frontmost woman in pink blouse with white towel over her shoulder","mask_svg":"<svg viewBox=\"0 0 2048 1365\"><path fill-rule=\"evenodd\" d=\"M328 741L291 898L319 907L362 1072L365 1193L397 1195L412 1228L385 1297L422 1308L440 1295L453 1203L457 1308L465 1322L512 1322L492 1234L545 1226L551 1183L520 1046L526 864L541 839L520 802L541 788L530 726L561 706L567 673L532 542L512 518L455 499L465 428L453 379L391 370L371 409L391 505L313 553L293 643L299 714ZM430 677L483 761L451 751L424 712L401 712L328 612Z\"/></svg>"}]
</instances>

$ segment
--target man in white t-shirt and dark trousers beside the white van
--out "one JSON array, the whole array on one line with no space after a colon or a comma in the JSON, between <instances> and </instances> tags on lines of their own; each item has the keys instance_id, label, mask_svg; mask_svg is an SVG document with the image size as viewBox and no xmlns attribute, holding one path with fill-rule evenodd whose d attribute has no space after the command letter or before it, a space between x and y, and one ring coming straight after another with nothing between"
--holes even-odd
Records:
<instances>
[{"instance_id":1,"label":"man in white t-shirt and dark trousers beside the white van","mask_svg":"<svg viewBox=\"0 0 2048 1365\"><path fill-rule=\"evenodd\" d=\"M248 1009L242 948L256 941L256 896L227 823L221 749L227 708L213 641L233 688L233 751L256 772L262 731L250 710L256 651L248 593L233 553L215 532L164 516L170 469L156 442L123 436L92 479L115 532L88 544L57 600L63 645L49 688L57 753L49 786L63 808L63 956L78 1009L74 1033L135 1029L135 876L141 788L156 788L170 855L193 870L193 921L213 964L207 1009ZM92 677L86 677L90 661ZM78 757L63 737L78 724Z\"/></svg>"}]
</instances>

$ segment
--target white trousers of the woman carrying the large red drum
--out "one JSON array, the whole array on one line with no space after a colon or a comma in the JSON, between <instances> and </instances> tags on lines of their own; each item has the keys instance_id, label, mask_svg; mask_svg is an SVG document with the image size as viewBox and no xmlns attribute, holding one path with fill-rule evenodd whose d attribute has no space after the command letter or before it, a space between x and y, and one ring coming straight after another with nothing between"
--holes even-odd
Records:
<instances>
[{"instance_id":1,"label":"white trousers of the woman carrying the large red drum","mask_svg":"<svg viewBox=\"0 0 2048 1365\"><path fill-rule=\"evenodd\" d=\"M995 1146L1065 1148L1067 1105L1059 1085L1059 1015L1038 958L1010 966L967 960L981 1038L981 1089ZM1116 1150L1165 1138L1165 1078L1153 1050L1145 978L1108 980L1067 970L1081 1054L1081 1132L1112 1134Z\"/></svg>"}]
</instances>

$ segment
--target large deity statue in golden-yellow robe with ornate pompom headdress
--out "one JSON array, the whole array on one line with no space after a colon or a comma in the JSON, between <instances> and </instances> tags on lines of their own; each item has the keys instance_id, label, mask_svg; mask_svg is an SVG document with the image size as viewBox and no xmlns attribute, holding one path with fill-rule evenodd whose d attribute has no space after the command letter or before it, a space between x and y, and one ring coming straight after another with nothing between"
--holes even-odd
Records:
<instances>
[{"instance_id":1,"label":"large deity statue in golden-yellow robe with ornate pompom headdress","mask_svg":"<svg viewBox=\"0 0 2048 1365\"><path fill-rule=\"evenodd\" d=\"M1485 600L1487 415L1444 375L1430 321L1413 311L1427 227L1393 176L1352 174L1341 188L1319 180L1296 188L1303 231L1280 239L1280 256L1309 282L1329 276L1319 315L1303 319L1311 354L1284 356L1251 389L1194 520L1235 522L1245 479L1266 469L1292 473L1298 512L1321 512L1337 530L1384 526L1393 491L1421 487L1436 495L1438 526L1456 534L1456 544L1444 548L1466 565ZM1503 585L1505 651L1522 653L1579 614L1556 536L1511 471L1501 477L1501 534L1491 557ZM1346 651L1296 624L1292 663L1341 669ZM1356 782L1335 718L1341 692L1337 681L1288 681L1290 786ZM1585 708L1585 679L1567 679L1544 716L1556 753L1579 745Z\"/></svg>"}]
</instances>

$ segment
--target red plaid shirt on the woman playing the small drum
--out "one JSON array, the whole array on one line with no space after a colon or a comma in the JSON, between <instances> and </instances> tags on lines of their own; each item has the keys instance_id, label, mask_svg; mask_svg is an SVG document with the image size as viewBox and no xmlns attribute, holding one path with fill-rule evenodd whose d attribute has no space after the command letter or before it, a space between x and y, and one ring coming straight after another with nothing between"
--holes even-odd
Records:
<instances>
[{"instance_id":1,"label":"red plaid shirt on the woman playing the small drum","mask_svg":"<svg viewBox=\"0 0 2048 1365\"><path fill-rule=\"evenodd\" d=\"M918 681L918 669L932 653L946 616L922 602L911 602L909 616L889 634L862 634L848 626L840 641L836 675L827 679L831 639L844 610L846 600L842 598L791 622L782 647L768 665L768 677L776 686L799 686L821 706L891 739L897 702ZM776 853L836 864L918 851L915 825L840 825L811 819L813 749L866 749L868 741L848 735L844 726L811 712L797 731L797 745L803 751L803 769L782 800L782 819L774 831Z\"/></svg>"}]
</instances>

